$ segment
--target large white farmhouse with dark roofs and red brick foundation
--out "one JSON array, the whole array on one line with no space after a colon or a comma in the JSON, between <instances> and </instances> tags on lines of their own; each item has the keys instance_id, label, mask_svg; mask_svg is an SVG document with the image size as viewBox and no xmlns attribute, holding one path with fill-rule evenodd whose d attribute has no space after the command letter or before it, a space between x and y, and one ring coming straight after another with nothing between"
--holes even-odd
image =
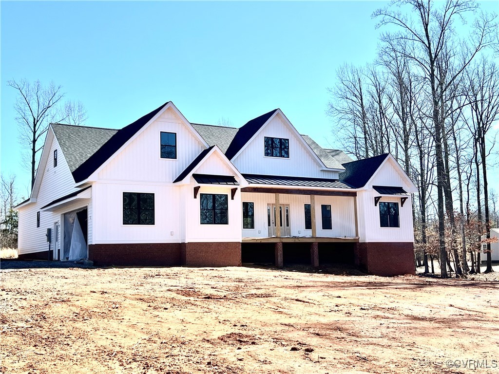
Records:
<instances>
[{"instance_id":1,"label":"large white farmhouse with dark roofs and red brick foundation","mask_svg":"<svg viewBox=\"0 0 499 374\"><path fill-rule=\"evenodd\" d=\"M50 125L17 206L19 257L414 274L416 191L390 154L351 161L280 109L237 129L190 123L167 102L121 130Z\"/></svg>"}]
</instances>

